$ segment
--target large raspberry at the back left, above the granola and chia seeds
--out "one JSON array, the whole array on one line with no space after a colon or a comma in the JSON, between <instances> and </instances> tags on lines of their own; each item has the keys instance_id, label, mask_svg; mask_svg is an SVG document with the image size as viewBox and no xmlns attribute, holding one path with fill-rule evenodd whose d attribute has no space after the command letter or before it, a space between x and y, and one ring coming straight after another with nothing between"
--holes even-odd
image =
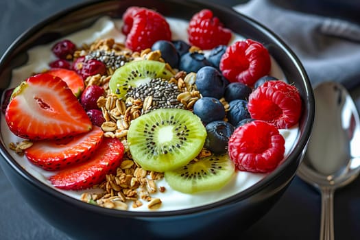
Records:
<instances>
[{"instance_id":1,"label":"large raspberry at the back left, above the granola and chia seeds","mask_svg":"<svg viewBox=\"0 0 360 240\"><path fill-rule=\"evenodd\" d=\"M130 8L123 15L125 46L132 51L151 48L158 40L171 40L169 23L164 16L147 8Z\"/></svg>"}]
</instances>

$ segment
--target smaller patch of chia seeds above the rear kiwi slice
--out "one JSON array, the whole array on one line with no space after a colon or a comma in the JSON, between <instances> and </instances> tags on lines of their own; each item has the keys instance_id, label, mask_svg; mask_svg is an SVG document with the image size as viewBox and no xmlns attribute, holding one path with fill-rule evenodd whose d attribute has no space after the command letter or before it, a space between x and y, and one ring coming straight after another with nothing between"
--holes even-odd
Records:
<instances>
[{"instance_id":1,"label":"smaller patch of chia seeds above the rear kiwi slice","mask_svg":"<svg viewBox=\"0 0 360 240\"><path fill-rule=\"evenodd\" d=\"M131 56L126 56L123 54L117 54L115 51L104 51L104 50L95 50L88 53L85 56L85 60L95 59L100 62L104 62L107 68L118 69L122 67L126 62L133 60Z\"/></svg>"}]
</instances>

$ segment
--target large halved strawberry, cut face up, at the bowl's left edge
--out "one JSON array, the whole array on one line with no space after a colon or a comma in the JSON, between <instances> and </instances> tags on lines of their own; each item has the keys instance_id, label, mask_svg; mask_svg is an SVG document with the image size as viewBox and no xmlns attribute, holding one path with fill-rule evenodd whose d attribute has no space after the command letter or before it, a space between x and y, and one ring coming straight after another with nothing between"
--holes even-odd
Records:
<instances>
[{"instance_id":1,"label":"large halved strawberry, cut face up, at the bowl's left edge","mask_svg":"<svg viewBox=\"0 0 360 240\"><path fill-rule=\"evenodd\" d=\"M75 136L93 127L67 84L47 73L29 77L16 87L5 121L16 136L32 141Z\"/></svg>"}]
</instances>

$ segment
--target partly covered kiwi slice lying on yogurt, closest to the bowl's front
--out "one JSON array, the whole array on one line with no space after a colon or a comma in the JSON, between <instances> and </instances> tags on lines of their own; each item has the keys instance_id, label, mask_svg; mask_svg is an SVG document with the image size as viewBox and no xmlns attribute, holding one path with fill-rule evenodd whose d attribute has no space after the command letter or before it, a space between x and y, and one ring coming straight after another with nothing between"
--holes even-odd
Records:
<instances>
[{"instance_id":1,"label":"partly covered kiwi slice lying on yogurt, closest to the bowl's front","mask_svg":"<svg viewBox=\"0 0 360 240\"><path fill-rule=\"evenodd\" d=\"M228 154L193 160L164 176L171 188L182 193L215 191L224 187L234 176L235 165Z\"/></svg>"}]
</instances>

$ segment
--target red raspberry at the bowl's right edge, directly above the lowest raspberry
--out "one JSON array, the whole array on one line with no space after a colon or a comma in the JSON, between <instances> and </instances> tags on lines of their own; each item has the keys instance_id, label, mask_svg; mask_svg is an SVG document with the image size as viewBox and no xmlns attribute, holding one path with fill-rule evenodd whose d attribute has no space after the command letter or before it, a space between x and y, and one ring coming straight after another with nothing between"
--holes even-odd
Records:
<instances>
[{"instance_id":1,"label":"red raspberry at the bowl's right edge, directly above the lowest raspberry","mask_svg":"<svg viewBox=\"0 0 360 240\"><path fill-rule=\"evenodd\" d=\"M280 80L265 82L249 96L248 110L253 119L291 128L298 123L302 101L296 86Z\"/></svg>"}]
</instances>

